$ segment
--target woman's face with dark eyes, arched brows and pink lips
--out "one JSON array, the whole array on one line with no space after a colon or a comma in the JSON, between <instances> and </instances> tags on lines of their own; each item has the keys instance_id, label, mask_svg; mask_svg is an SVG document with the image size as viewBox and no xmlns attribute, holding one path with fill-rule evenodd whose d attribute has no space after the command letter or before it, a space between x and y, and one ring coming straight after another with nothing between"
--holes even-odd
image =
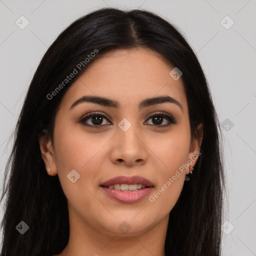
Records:
<instances>
[{"instance_id":1,"label":"woman's face with dark eyes, arched brows and pink lips","mask_svg":"<svg viewBox=\"0 0 256 256\"><path fill-rule=\"evenodd\" d=\"M173 67L149 49L118 49L91 63L66 91L53 144L39 143L49 175L59 177L69 218L115 235L125 235L123 227L137 235L166 225L200 146L190 136L182 80L169 75ZM124 177L104 183L118 176ZM117 183L149 187L111 188Z\"/></svg>"}]
</instances>

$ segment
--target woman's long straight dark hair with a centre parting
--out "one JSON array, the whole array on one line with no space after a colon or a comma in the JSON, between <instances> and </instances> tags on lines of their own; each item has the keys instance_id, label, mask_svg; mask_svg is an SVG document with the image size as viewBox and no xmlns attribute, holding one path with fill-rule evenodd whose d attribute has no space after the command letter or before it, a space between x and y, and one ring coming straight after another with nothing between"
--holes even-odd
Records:
<instances>
[{"instance_id":1,"label":"woman's long straight dark hair with a centre parting","mask_svg":"<svg viewBox=\"0 0 256 256\"><path fill-rule=\"evenodd\" d=\"M77 19L59 34L30 83L16 124L0 199L6 197L1 223L1 253L5 256L53 255L66 246L67 200L58 176L45 171L38 136L47 132L52 138L61 98L87 66L106 51L135 47L158 52L182 71L192 136L197 124L203 124L201 155L169 214L165 255L220 255L224 188L221 133L199 61L178 28L160 16L139 9L102 8ZM56 91L66 75L95 49L95 57ZM49 99L52 91L56 93ZM29 226L24 234L15 228L21 220Z\"/></svg>"}]
</instances>

